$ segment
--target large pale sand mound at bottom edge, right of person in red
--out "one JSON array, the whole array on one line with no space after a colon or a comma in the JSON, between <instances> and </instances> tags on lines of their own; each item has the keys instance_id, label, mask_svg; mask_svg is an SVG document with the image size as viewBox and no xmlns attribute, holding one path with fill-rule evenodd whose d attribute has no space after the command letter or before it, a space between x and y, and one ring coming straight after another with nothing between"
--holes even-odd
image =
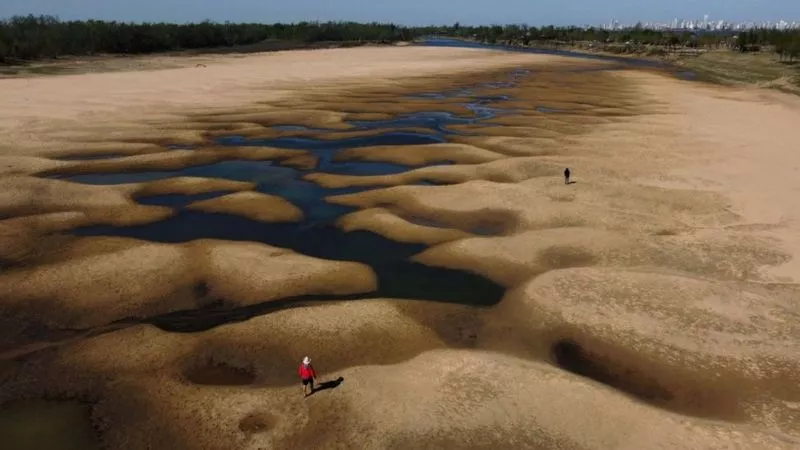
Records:
<instances>
[{"instance_id":1,"label":"large pale sand mound at bottom edge, right of person in red","mask_svg":"<svg viewBox=\"0 0 800 450\"><path fill-rule=\"evenodd\" d=\"M665 413L563 371L482 352L434 351L391 368L342 375L347 389L314 404L313 422L282 445L344 448L357 441L365 448L631 450L725 448L730 441L743 448L797 445L782 436ZM574 413L576 403L582 414ZM327 433L329 427L337 432Z\"/></svg>"}]
</instances>

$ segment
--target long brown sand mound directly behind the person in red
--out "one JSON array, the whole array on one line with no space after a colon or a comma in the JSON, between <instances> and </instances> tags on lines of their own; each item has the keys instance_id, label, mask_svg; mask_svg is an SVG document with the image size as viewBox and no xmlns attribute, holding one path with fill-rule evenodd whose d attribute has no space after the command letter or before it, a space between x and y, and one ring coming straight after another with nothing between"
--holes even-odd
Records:
<instances>
[{"instance_id":1,"label":"long brown sand mound directly behind the person in red","mask_svg":"<svg viewBox=\"0 0 800 450\"><path fill-rule=\"evenodd\" d=\"M30 355L29 367L16 373L35 373L20 387L31 392L103 390L96 383L107 377L174 378L191 385L187 374L218 366L223 366L221 372L253 374L252 384L262 388L295 387L295 369L305 355L312 355L320 370L332 373L350 366L393 364L444 345L435 332L393 303L321 303L203 333L170 333L134 325L69 343L61 352ZM399 332L385 333L385 326L397 327ZM298 334L298 329L305 333ZM329 345L331 341L337 345Z\"/></svg>"}]
</instances>

